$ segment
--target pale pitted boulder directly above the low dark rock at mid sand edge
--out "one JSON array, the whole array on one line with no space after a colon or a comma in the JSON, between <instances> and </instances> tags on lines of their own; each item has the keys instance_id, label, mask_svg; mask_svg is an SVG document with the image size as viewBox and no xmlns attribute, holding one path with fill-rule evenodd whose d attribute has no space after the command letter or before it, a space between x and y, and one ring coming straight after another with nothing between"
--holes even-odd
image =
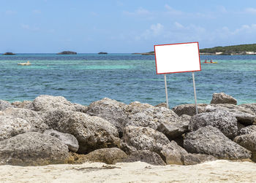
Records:
<instances>
[{"instance_id":1,"label":"pale pitted boulder directly above the low dark rock at mid sand edge","mask_svg":"<svg viewBox=\"0 0 256 183\"><path fill-rule=\"evenodd\" d=\"M127 126L124 128L124 142L136 150L149 150L161 155L162 148L169 144L167 137L148 127Z\"/></svg>"}]
</instances>

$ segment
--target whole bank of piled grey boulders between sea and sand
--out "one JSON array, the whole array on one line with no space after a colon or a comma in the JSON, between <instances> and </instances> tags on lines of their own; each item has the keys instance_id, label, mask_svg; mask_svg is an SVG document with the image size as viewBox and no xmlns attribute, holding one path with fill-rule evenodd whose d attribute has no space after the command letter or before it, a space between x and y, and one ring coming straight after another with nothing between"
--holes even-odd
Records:
<instances>
[{"instance_id":1,"label":"whole bank of piled grey boulders between sea and sand","mask_svg":"<svg viewBox=\"0 0 256 183\"><path fill-rule=\"evenodd\" d=\"M214 93L198 112L194 104L167 109L110 98L89 106L62 96L0 100L0 165L256 160L256 104Z\"/></svg>"}]
</instances>

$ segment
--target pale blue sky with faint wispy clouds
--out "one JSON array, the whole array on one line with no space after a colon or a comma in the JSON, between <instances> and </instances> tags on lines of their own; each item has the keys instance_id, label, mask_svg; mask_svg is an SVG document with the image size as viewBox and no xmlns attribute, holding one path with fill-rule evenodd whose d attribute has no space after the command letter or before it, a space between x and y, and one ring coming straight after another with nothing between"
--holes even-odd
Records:
<instances>
[{"instance_id":1,"label":"pale blue sky with faint wispy clouds","mask_svg":"<svg viewBox=\"0 0 256 183\"><path fill-rule=\"evenodd\" d=\"M256 43L255 0L0 0L0 52L149 52Z\"/></svg>"}]
</instances>

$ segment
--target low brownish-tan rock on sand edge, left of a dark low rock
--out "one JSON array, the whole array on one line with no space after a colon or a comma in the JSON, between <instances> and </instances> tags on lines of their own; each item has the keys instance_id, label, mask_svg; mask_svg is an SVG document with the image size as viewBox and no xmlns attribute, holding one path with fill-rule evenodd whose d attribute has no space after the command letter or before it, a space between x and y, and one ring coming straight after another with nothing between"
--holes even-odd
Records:
<instances>
[{"instance_id":1,"label":"low brownish-tan rock on sand edge, left of a dark low rock","mask_svg":"<svg viewBox=\"0 0 256 183\"><path fill-rule=\"evenodd\" d=\"M107 164L115 164L116 162L127 157L127 154L116 147L102 148L94 150L85 156L90 162L102 162Z\"/></svg>"}]
</instances>

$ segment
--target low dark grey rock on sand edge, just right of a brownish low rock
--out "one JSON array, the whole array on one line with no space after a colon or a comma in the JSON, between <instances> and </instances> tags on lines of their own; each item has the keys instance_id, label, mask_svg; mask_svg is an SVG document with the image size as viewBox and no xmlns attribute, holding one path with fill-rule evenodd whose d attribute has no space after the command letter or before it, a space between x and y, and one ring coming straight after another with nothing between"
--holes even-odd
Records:
<instances>
[{"instance_id":1,"label":"low dark grey rock on sand edge, just right of a brownish low rock","mask_svg":"<svg viewBox=\"0 0 256 183\"><path fill-rule=\"evenodd\" d=\"M124 158L122 160L117 161L118 162L124 162L124 163L130 163L130 162L145 162L154 166L165 166L165 162L162 160L162 158L155 152L150 152L148 150L141 150L141 151L135 151L132 152L131 155L129 155L127 158Z\"/></svg>"}]
</instances>

